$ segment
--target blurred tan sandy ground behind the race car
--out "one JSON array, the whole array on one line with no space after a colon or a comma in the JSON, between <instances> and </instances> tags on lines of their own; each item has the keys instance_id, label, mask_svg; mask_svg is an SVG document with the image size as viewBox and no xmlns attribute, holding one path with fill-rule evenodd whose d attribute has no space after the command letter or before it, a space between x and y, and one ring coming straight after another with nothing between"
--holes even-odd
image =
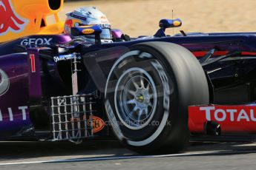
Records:
<instances>
[{"instance_id":1,"label":"blurred tan sandy ground behind the race car","mask_svg":"<svg viewBox=\"0 0 256 170\"><path fill-rule=\"evenodd\" d=\"M256 32L256 0L70 0L59 14L65 19L66 12L82 6L98 7L113 28L131 36L154 35L160 18L171 18L171 10L183 21L174 33Z\"/></svg>"}]
</instances>

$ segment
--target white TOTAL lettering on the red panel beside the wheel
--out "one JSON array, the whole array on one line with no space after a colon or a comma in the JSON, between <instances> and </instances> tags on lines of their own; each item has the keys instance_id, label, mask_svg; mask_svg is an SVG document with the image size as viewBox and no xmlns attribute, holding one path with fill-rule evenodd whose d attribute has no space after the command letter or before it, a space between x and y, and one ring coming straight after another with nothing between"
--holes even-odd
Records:
<instances>
[{"instance_id":1,"label":"white TOTAL lettering on the red panel beside the wheel","mask_svg":"<svg viewBox=\"0 0 256 170\"><path fill-rule=\"evenodd\" d=\"M205 112L206 120L256 122L256 109L216 109L214 106L206 106L200 107L200 111Z\"/></svg>"}]
</instances>

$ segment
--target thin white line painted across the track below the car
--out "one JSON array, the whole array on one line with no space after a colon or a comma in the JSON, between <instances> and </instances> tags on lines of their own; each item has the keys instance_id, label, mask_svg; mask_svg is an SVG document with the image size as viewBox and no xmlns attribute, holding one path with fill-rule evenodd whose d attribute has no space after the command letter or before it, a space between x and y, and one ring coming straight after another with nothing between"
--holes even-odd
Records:
<instances>
[{"instance_id":1,"label":"thin white line painted across the track below the car","mask_svg":"<svg viewBox=\"0 0 256 170\"><path fill-rule=\"evenodd\" d=\"M28 162L13 162L13 163L0 163L0 166L19 165L19 164L34 164L34 163L70 163L70 162L85 162L85 161L98 161L98 160L124 160L124 159L138 159L138 158L151 158L151 157L178 157L178 156L200 156L208 154L246 154L256 153L256 151L210 151L210 152L194 152L184 154L160 154L160 155L138 155L126 157L87 157L77 159L63 159L63 160L38 160Z\"/></svg>"}]
</instances>

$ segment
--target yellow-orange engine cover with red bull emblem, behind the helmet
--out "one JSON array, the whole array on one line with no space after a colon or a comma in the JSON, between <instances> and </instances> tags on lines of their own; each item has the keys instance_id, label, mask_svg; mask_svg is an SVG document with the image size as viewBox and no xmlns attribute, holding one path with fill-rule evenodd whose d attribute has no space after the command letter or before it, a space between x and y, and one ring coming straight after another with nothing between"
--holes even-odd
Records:
<instances>
[{"instance_id":1,"label":"yellow-orange engine cover with red bull emblem, behind the helmet","mask_svg":"<svg viewBox=\"0 0 256 170\"><path fill-rule=\"evenodd\" d=\"M1 0L0 42L35 34L59 34L64 22L58 12L64 0ZM47 16L54 16L55 23L48 24Z\"/></svg>"}]
</instances>

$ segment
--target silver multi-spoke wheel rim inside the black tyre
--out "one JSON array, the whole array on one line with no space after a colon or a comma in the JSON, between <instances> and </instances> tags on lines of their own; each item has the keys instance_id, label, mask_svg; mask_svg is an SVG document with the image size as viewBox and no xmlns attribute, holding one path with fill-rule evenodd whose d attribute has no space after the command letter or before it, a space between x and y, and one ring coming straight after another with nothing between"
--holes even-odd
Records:
<instances>
[{"instance_id":1,"label":"silver multi-spoke wheel rim inside the black tyre","mask_svg":"<svg viewBox=\"0 0 256 170\"><path fill-rule=\"evenodd\" d=\"M157 89L145 69L131 68L116 84L114 102L119 120L129 129L142 129L154 116Z\"/></svg>"}]
</instances>

